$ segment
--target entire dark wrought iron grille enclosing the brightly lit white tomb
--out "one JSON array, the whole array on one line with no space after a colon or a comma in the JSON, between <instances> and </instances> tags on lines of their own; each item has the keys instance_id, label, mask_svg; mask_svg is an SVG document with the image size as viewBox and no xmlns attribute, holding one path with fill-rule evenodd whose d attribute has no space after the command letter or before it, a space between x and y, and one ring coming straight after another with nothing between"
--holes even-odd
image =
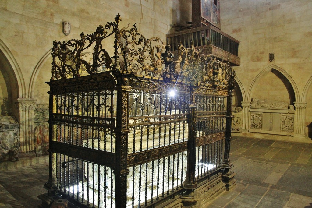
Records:
<instances>
[{"instance_id":1,"label":"entire dark wrought iron grille enclosing the brightly lit white tomb","mask_svg":"<svg viewBox=\"0 0 312 208\"><path fill-rule=\"evenodd\" d=\"M173 59L115 20L52 50L45 187L77 207L154 206L231 167L229 63L182 45ZM101 41L113 34L109 57ZM92 44L91 64L81 54Z\"/></svg>"}]
</instances>

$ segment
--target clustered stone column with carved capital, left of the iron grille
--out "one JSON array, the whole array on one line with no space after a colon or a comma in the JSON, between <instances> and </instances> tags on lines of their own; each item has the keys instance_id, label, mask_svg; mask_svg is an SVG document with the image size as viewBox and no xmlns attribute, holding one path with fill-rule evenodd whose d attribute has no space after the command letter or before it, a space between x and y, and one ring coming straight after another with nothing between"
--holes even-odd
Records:
<instances>
[{"instance_id":1,"label":"clustered stone column with carved capital, left of the iron grille","mask_svg":"<svg viewBox=\"0 0 312 208\"><path fill-rule=\"evenodd\" d=\"M37 99L18 98L15 107L18 109L20 123L20 152L30 152L35 149L34 110Z\"/></svg>"}]
</instances>

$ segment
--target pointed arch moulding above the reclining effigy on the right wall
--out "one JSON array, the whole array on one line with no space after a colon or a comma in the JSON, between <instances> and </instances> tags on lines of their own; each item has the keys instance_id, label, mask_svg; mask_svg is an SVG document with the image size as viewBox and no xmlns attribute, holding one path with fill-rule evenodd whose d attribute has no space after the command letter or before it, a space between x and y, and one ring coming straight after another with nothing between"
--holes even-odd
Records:
<instances>
[{"instance_id":1,"label":"pointed arch moulding above the reclining effigy on the right wall","mask_svg":"<svg viewBox=\"0 0 312 208\"><path fill-rule=\"evenodd\" d=\"M263 69L257 76L256 78L252 81L251 83L251 87L248 91L248 95L247 95L247 101L250 101L251 98L253 98L256 88L259 85L261 79L269 72L271 72L271 70L276 70L278 71L280 74L282 74L283 76L285 76L285 78L289 81L290 85L292 86L292 89L294 91L294 101L299 101L300 100L300 94L299 94L299 90L298 87L295 83L295 81L292 79L292 77L282 68L280 68L279 66L276 65L270 65L268 67L266 67L265 69Z\"/></svg>"}]
</instances>

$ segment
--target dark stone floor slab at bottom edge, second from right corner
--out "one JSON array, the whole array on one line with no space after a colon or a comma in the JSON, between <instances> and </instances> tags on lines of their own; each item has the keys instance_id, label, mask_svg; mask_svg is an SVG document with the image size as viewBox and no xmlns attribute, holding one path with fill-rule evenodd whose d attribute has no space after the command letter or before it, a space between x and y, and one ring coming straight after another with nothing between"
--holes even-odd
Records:
<instances>
[{"instance_id":1,"label":"dark stone floor slab at bottom edge, second from right corner","mask_svg":"<svg viewBox=\"0 0 312 208\"><path fill-rule=\"evenodd\" d=\"M282 208L285 206L287 201L290 198L290 193L285 191L278 191L274 189L270 189L265 196L261 199L259 204L256 207L259 208L267 208L267 207L275 207Z\"/></svg>"}]
</instances>

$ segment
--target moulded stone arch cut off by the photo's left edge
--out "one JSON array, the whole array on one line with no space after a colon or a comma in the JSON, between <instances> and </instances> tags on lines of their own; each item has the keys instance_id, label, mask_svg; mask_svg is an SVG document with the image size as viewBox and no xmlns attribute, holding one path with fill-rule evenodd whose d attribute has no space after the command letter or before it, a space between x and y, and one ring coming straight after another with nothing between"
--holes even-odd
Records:
<instances>
[{"instance_id":1,"label":"moulded stone arch cut off by the photo's left edge","mask_svg":"<svg viewBox=\"0 0 312 208\"><path fill-rule=\"evenodd\" d=\"M16 83L16 86L14 86L14 88L17 89L17 94L13 96L13 99L25 98L26 87L21 68L19 67L10 49L1 39L0 39L0 56L1 59L3 59L9 67L4 70L8 73L9 77L11 78L10 84L14 85Z\"/></svg>"}]
</instances>

